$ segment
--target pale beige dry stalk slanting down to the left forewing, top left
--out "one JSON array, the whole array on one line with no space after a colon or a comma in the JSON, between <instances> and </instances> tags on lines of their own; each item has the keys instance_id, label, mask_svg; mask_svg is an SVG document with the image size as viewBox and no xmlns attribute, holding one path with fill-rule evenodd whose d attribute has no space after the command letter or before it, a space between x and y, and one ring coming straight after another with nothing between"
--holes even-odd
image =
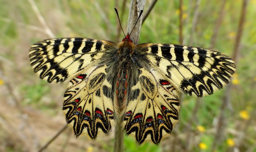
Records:
<instances>
[{"instance_id":1,"label":"pale beige dry stalk slanting down to the left forewing, top left","mask_svg":"<svg viewBox=\"0 0 256 152\"><path fill-rule=\"evenodd\" d=\"M52 31L50 30L49 26L46 24L43 16L41 15L40 11L38 10L34 0L28 0L28 2L31 4L34 12L36 13L37 18L39 19L40 23L43 25L44 30L46 32L46 34L50 37L50 38L54 38L54 34L52 33Z\"/></svg>"}]
</instances>

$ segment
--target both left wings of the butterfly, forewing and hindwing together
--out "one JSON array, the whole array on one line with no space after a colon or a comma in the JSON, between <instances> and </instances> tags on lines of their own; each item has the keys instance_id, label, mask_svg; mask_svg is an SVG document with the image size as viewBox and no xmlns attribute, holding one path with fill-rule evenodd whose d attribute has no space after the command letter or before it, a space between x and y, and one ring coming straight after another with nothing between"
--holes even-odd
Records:
<instances>
[{"instance_id":1,"label":"both left wings of the butterfly, forewing and hindwing together","mask_svg":"<svg viewBox=\"0 0 256 152\"><path fill-rule=\"evenodd\" d=\"M71 81L64 94L63 111L75 135L105 134L114 119L112 84L106 79L106 66L98 64L116 43L86 38L58 38L39 41L29 50L30 64L41 79Z\"/></svg>"}]
</instances>

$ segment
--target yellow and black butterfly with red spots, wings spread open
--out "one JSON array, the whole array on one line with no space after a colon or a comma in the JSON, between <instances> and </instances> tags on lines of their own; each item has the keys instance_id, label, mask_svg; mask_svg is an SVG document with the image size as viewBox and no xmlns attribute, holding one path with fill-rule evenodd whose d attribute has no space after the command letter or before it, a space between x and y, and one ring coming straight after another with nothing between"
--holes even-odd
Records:
<instances>
[{"instance_id":1,"label":"yellow and black butterfly with red spots, wings spread open","mask_svg":"<svg viewBox=\"0 0 256 152\"><path fill-rule=\"evenodd\" d=\"M88 38L36 42L34 72L49 83L69 81L63 111L76 136L96 139L121 123L138 143L157 144L178 122L178 91L202 97L223 88L235 72L228 56L178 44L116 44Z\"/></svg>"}]
</instances>

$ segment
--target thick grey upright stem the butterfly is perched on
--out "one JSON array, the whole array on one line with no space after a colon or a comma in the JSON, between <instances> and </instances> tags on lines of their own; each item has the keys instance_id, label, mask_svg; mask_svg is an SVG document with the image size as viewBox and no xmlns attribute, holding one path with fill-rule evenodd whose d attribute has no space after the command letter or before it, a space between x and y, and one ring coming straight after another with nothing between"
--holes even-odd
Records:
<instances>
[{"instance_id":1,"label":"thick grey upright stem the butterfly is perched on","mask_svg":"<svg viewBox=\"0 0 256 152\"><path fill-rule=\"evenodd\" d=\"M130 11L129 11L129 19L128 19L128 26L127 31L131 33L132 28L134 27L136 20L139 17L140 10L144 9L145 0L131 0ZM130 38L132 39L133 43L138 44L139 37L140 37L140 28L142 23L142 16L140 17L138 23L136 24L135 28L133 29ZM124 149L124 128L123 124L123 117L118 118L116 128L115 128L115 145L114 145L114 152L121 152Z\"/></svg>"}]
</instances>

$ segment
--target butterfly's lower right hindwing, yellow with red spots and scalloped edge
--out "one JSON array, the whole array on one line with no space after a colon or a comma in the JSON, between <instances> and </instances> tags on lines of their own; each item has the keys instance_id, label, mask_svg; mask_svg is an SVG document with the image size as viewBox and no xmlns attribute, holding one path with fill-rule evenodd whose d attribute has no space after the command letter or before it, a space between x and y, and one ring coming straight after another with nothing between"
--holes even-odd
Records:
<instances>
[{"instance_id":1,"label":"butterfly's lower right hindwing, yellow with red spots and scalloped edge","mask_svg":"<svg viewBox=\"0 0 256 152\"><path fill-rule=\"evenodd\" d=\"M125 130L126 134L135 135L139 143L151 140L157 144L178 122L178 95L158 71L145 68L139 71L139 79L127 95Z\"/></svg>"}]
</instances>

